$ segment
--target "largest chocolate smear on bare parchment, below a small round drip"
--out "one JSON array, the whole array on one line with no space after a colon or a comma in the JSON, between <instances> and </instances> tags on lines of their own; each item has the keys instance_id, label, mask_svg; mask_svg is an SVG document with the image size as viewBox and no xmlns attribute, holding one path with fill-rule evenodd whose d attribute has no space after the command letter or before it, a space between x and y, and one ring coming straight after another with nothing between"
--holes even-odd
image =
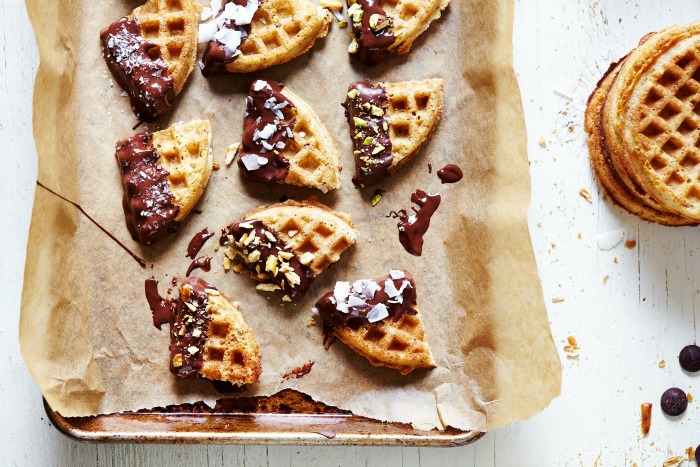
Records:
<instances>
[{"instance_id":1,"label":"largest chocolate smear on bare parchment, below a small round drip","mask_svg":"<svg viewBox=\"0 0 700 467\"><path fill-rule=\"evenodd\" d=\"M389 216L399 219L399 241L404 250L420 256L423 253L423 235L430 227L430 218L440 206L440 195L416 190L411 195L411 202L418 205L418 210L412 208L415 214L409 216L405 209L401 209L392 211Z\"/></svg>"}]
</instances>

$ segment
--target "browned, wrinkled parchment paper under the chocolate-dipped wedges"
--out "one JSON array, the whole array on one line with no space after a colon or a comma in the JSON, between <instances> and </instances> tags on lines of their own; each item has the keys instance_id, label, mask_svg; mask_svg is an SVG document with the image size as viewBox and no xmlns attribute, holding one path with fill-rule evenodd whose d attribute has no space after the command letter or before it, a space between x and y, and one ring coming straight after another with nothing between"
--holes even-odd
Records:
<instances>
[{"instance_id":1,"label":"browned, wrinkled parchment paper under the chocolate-dipped wedges","mask_svg":"<svg viewBox=\"0 0 700 467\"><path fill-rule=\"evenodd\" d=\"M204 228L218 231L282 195L322 202L352 215L357 245L321 275L300 303L281 307L248 278L224 273L214 241L209 273L195 272L240 302L260 342L263 375L247 395L282 388L386 421L419 428L450 425L493 429L528 418L559 394L561 369L547 322L527 230L529 175L520 96L511 65L511 0L454 0L409 54L374 68L352 65L347 29L334 24L312 52L255 75L205 79L195 70L174 113L151 131L177 121L208 118L215 171L198 208L153 247L133 242L121 207L114 157L117 140L132 134L128 98L113 84L101 57L100 29L137 3L27 0L41 66L34 100L39 181L80 203L103 226L148 261L146 269L73 206L37 187L27 250L20 342L34 379L64 416L120 412L219 395L204 380L168 371L168 332L151 324L144 279L183 278L186 246ZM226 167L226 146L239 141L244 96L255 76L284 82L317 111L341 149L343 186L322 195L244 180ZM423 151L373 192L355 189L348 129L340 106L349 83L445 79L445 112ZM141 127L140 131L146 130ZM429 174L427 164L434 172ZM457 163L465 173L441 185L435 170ZM396 221L416 189L442 194L423 257L400 246ZM438 367L402 377L373 368L344 344L321 345L320 326L307 327L316 299L336 280L354 281L411 271L427 338ZM288 370L314 361L307 376L282 382Z\"/></svg>"}]
</instances>

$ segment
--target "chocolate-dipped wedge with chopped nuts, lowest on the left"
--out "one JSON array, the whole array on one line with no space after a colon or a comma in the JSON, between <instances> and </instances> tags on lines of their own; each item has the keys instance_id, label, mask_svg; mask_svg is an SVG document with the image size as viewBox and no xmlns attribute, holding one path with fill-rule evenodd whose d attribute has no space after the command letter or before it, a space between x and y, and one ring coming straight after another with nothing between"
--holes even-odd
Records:
<instances>
[{"instance_id":1,"label":"chocolate-dipped wedge with chopped nuts, lowest on the left","mask_svg":"<svg viewBox=\"0 0 700 467\"><path fill-rule=\"evenodd\" d=\"M174 374L236 385L255 383L262 373L259 350L237 303L202 279L182 283L171 329Z\"/></svg>"}]
</instances>

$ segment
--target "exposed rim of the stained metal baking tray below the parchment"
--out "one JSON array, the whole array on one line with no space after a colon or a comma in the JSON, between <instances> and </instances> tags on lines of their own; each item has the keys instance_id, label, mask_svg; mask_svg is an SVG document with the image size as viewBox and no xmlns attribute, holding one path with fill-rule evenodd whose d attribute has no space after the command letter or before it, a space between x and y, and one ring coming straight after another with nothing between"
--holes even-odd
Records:
<instances>
[{"instance_id":1,"label":"exposed rim of the stained metal baking tray below the parchment","mask_svg":"<svg viewBox=\"0 0 700 467\"><path fill-rule=\"evenodd\" d=\"M353 415L285 389L269 397L219 399L137 412L63 417L44 401L49 419L63 434L104 443L295 444L372 446L464 446L484 433L448 427L419 431Z\"/></svg>"}]
</instances>

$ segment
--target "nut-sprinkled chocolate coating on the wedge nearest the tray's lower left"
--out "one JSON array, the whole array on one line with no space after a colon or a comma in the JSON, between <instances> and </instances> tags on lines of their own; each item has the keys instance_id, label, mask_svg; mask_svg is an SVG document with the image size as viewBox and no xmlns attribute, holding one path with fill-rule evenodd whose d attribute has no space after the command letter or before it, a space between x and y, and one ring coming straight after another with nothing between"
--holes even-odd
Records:
<instances>
[{"instance_id":1,"label":"nut-sprinkled chocolate coating on the wedge nearest the tray's lower left","mask_svg":"<svg viewBox=\"0 0 700 467\"><path fill-rule=\"evenodd\" d=\"M185 279L180 286L177 314L170 328L170 371L181 378L191 378L202 369L211 320L208 290L217 289L198 277Z\"/></svg>"}]
</instances>

